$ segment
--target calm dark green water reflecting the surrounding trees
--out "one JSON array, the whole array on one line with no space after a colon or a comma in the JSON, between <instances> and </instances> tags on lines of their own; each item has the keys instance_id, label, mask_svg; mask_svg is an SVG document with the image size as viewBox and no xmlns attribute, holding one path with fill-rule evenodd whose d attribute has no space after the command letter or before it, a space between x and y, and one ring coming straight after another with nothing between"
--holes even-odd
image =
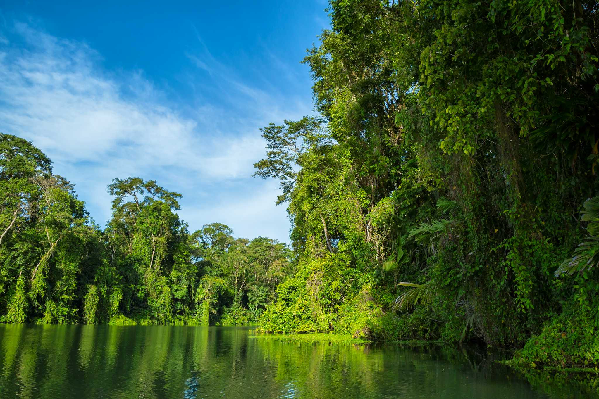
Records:
<instances>
[{"instance_id":1,"label":"calm dark green water reflecting the surrounding trees","mask_svg":"<svg viewBox=\"0 0 599 399\"><path fill-rule=\"evenodd\" d=\"M289 343L242 327L0 325L0 397L576 398L481 347Z\"/></svg>"}]
</instances>

